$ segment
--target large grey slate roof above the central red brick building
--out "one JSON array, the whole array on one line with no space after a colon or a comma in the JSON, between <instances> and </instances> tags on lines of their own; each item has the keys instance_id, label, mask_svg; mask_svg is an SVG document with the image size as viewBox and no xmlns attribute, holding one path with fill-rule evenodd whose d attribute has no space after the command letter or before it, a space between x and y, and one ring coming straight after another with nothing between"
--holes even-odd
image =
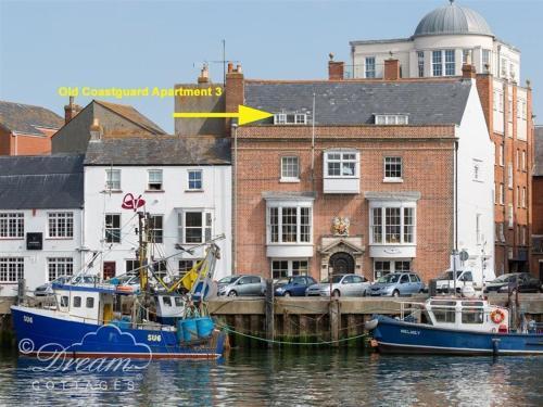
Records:
<instances>
[{"instance_id":1,"label":"large grey slate roof above the central red brick building","mask_svg":"<svg viewBox=\"0 0 543 407\"><path fill-rule=\"evenodd\" d=\"M270 113L311 117L317 125L374 124L375 114L407 114L411 125L459 124L471 82L435 81L247 81L245 104ZM268 119L266 123L273 123Z\"/></svg>"}]
</instances>

